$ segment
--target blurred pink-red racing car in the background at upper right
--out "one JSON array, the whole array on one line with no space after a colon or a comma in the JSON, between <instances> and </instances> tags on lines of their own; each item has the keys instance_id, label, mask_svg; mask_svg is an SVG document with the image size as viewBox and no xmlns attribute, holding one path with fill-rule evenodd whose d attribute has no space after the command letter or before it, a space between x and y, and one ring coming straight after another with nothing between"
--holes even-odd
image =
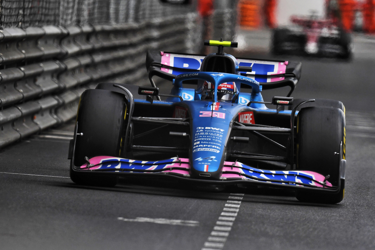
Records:
<instances>
[{"instance_id":1,"label":"blurred pink-red racing car in the background at upper right","mask_svg":"<svg viewBox=\"0 0 375 250\"><path fill-rule=\"evenodd\" d=\"M273 54L351 58L351 36L332 20L292 16L291 22L294 24L291 27L273 30Z\"/></svg>"}]
</instances>

